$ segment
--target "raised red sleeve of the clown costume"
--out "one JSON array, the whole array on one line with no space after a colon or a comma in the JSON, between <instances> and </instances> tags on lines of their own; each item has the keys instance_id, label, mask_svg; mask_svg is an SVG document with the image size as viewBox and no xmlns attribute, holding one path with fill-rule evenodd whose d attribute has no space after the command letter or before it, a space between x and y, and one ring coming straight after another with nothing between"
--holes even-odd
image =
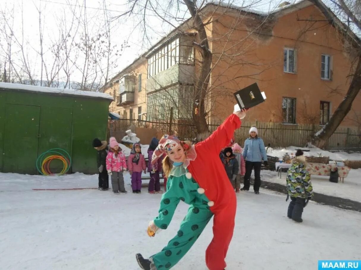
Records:
<instances>
[{"instance_id":1,"label":"raised red sleeve of the clown costume","mask_svg":"<svg viewBox=\"0 0 361 270\"><path fill-rule=\"evenodd\" d=\"M240 126L241 120L237 115L232 114L208 138L206 138L202 144L219 153L222 148L229 144L234 131Z\"/></svg>"}]
</instances>

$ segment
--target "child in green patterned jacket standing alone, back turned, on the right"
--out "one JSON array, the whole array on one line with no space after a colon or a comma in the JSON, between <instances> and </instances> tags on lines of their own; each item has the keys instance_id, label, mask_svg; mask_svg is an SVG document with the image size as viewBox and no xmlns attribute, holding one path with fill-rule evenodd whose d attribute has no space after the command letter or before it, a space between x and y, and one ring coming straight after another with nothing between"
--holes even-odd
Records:
<instances>
[{"instance_id":1,"label":"child in green patterned jacket standing alone, back turned, on the right","mask_svg":"<svg viewBox=\"0 0 361 270\"><path fill-rule=\"evenodd\" d=\"M296 222L302 222L303 208L308 200L313 196L313 189L310 174L306 170L306 158L300 149L296 152L296 157L292 160L291 168L288 169L287 177L287 199L291 197L288 205L287 217ZM306 202L307 199L307 202Z\"/></svg>"}]
</instances>

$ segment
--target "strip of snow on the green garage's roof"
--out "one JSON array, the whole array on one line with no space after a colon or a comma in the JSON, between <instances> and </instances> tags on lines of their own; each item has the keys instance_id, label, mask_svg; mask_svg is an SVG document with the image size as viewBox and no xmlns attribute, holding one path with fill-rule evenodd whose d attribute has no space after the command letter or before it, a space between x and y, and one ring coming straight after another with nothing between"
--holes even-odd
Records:
<instances>
[{"instance_id":1,"label":"strip of snow on the green garage's roof","mask_svg":"<svg viewBox=\"0 0 361 270\"><path fill-rule=\"evenodd\" d=\"M106 98L113 100L112 96L105 93L71 90L71 89L55 88L55 87L43 87L43 86L16 84L16 83L0 83L0 88L42 92L42 93L58 93L58 94L78 96L78 97Z\"/></svg>"}]
</instances>

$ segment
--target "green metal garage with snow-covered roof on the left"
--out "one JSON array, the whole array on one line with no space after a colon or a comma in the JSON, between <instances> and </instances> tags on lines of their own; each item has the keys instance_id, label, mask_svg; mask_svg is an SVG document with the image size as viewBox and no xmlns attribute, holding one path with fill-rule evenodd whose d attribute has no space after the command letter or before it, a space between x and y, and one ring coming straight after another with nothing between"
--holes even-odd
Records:
<instances>
[{"instance_id":1,"label":"green metal garage with snow-covered roof on the left","mask_svg":"<svg viewBox=\"0 0 361 270\"><path fill-rule=\"evenodd\" d=\"M38 174L38 156L61 148L71 156L68 173L96 173L92 140L106 139L112 100L104 93L0 83L0 172ZM62 166L54 160L51 170Z\"/></svg>"}]
</instances>

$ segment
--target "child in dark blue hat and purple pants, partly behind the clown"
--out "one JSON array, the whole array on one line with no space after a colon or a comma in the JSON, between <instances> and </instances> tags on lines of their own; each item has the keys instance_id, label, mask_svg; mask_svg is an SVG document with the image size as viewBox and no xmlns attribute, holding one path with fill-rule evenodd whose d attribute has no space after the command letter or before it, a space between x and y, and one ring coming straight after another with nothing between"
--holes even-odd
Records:
<instances>
[{"instance_id":1,"label":"child in dark blue hat and purple pants, partly behind the clown","mask_svg":"<svg viewBox=\"0 0 361 270\"><path fill-rule=\"evenodd\" d=\"M163 193L160 190L160 181L159 181L159 172L162 170L162 159L158 159L157 163L152 165L151 159L153 156L154 150L158 146L157 138L153 137L152 141L148 148L148 172L151 179L149 180L148 185L148 193L155 194L155 193Z\"/></svg>"}]
</instances>

